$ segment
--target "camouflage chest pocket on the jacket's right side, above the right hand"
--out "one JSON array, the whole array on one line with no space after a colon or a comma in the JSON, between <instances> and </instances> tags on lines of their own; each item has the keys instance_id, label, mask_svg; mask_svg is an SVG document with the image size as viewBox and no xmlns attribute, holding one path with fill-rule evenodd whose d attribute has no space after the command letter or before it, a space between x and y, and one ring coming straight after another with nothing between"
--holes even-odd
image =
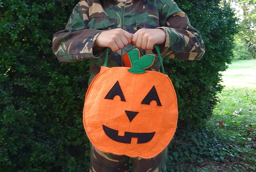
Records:
<instances>
[{"instance_id":1,"label":"camouflage chest pocket on the jacket's right side, above the right hand","mask_svg":"<svg viewBox=\"0 0 256 172\"><path fill-rule=\"evenodd\" d=\"M146 16L146 17L136 18L135 20L136 20L136 27L134 28L135 32L142 28L156 29L157 27L160 27L159 19L156 17Z\"/></svg>"}]
</instances>

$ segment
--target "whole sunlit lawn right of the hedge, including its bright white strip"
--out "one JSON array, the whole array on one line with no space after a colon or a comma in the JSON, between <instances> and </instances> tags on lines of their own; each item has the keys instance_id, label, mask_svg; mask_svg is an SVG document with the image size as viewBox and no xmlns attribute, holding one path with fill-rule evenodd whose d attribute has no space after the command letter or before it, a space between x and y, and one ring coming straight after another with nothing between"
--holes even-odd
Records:
<instances>
[{"instance_id":1,"label":"whole sunlit lawn right of the hedge, including its bright white strip","mask_svg":"<svg viewBox=\"0 0 256 172\"><path fill-rule=\"evenodd\" d=\"M223 72L223 85L226 87L217 96L217 104L210 120L211 125L219 127L224 133L234 136L234 140L256 141L256 60L234 61L227 71ZM242 112L233 115L235 110ZM249 132L247 131L249 130Z\"/></svg>"}]
</instances>

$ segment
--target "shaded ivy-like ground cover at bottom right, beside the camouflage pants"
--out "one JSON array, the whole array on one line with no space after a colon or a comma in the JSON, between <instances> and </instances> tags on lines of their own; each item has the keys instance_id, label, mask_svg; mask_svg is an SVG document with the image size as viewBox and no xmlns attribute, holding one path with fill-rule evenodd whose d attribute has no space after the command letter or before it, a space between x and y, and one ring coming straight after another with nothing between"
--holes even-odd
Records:
<instances>
[{"instance_id":1,"label":"shaded ivy-like ground cover at bottom right, beside the camouflage pants","mask_svg":"<svg viewBox=\"0 0 256 172\"><path fill-rule=\"evenodd\" d=\"M228 136L216 130L216 128L218 127L206 127L204 125L193 127L188 125L186 128L178 130L169 145L167 171L231 172L232 170L229 169L229 166L234 163L239 167L233 165L231 167L233 171L239 171L239 169L247 171L243 170L249 169L247 163L253 164L252 168L254 168L256 165L256 152L252 146L230 144L230 140L233 140L234 137ZM218 165L211 167L212 164Z\"/></svg>"}]
</instances>

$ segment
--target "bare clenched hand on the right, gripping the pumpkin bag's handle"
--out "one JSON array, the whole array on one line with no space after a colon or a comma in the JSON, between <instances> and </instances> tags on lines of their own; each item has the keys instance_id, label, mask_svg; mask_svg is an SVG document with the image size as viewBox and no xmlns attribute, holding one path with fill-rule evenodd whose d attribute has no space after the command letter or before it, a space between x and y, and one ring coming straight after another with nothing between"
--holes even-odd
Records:
<instances>
[{"instance_id":1,"label":"bare clenched hand on the right, gripping the pumpkin bag's handle","mask_svg":"<svg viewBox=\"0 0 256 172\"><path fill-rule=\"evenodd\" d=\"M132 45L144 49L153 50L154 45L163 44L166 35L163 29L139 29L132 35Z\"/></svg>"}]
</instances>

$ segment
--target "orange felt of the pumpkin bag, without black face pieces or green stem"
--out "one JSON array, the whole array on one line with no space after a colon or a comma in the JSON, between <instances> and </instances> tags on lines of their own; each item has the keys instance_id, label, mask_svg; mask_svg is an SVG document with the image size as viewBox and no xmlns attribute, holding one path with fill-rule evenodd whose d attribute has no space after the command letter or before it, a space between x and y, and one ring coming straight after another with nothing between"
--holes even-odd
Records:
<instances>
[{"instance_id":1,"label":"orange felt of the pumpkin bag, without black face pieces or green stem","mask_svg":"<svg viewBox=\"0 0 256 172\"><path fill-rule=\"evenodd\" d=\"M167 75L155 71L133 74L127 67L101 67L86 93L83 122L92 144L104 153L127 155L129 157L152 158L159 154L172 140L177 127L178 106L175 90ZM119 82L125 101L119 96L105 99L110 89ZM150 105L141 101L155 86L162 106L156 101ZM125 111L139 112L130 122ZM110 139L102 125L118 130L119 136L125 132L156 132L147 143L120 143Z\"/></svg>"}]
</instances>

